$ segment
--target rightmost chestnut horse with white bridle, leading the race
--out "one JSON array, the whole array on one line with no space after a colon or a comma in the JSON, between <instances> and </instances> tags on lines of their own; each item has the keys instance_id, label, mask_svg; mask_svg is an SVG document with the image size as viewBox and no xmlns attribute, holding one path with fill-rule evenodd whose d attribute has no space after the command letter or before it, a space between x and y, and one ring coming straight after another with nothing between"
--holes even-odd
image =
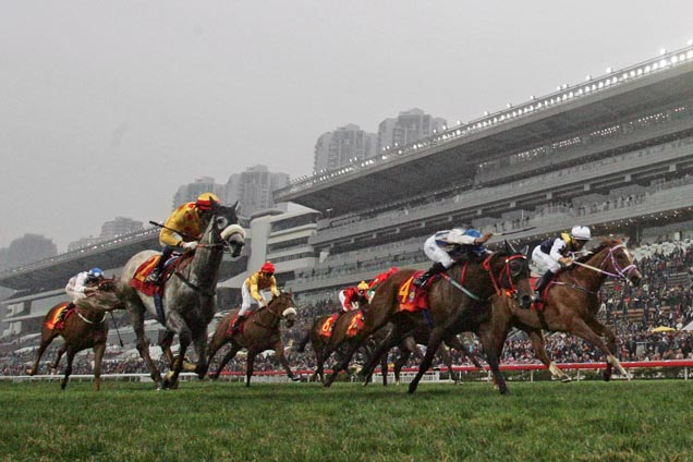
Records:
<instances>
[{"instance_id":1,"label":"rightmost chestnut horse with white bridle, leading the race","mask_svg":"<svg viewBox=\"0 0 693 462\"><path fill-rule=\"evenodd\" d=\"M506 296L497 297L494 302L494 336L497 339L498 355L502 353L508 331L511 327L516 327L528 333L535 354L554 377L570 381L570 377L549 360L542 330L569 332L587 340L604 352L607 362L605 380L611 378L613 366L629 377L616 357L616 336L596 317L599 309L598 292L608 277L634 285L643 277L620 239L604 239L589 255L581 257L573 266L559 272L549 285L544 308L522 309ZM603 337L606 337L606 343Z\"/></svg>"}]
</instances>

